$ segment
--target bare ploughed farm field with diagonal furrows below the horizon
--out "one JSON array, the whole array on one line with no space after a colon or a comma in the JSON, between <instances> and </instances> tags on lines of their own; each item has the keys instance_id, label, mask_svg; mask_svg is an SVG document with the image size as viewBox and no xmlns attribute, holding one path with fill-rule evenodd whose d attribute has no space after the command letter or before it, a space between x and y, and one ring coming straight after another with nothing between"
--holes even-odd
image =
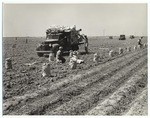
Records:
<instances>
[{"instance_id":1,"label":"bare ploughed farm field with diagonal furrows below the horizon","mask_svg":"<svg viewBox=\"0 0 150 118\"><path fill-rule=\"evenodd\" d=\"M3 38L4 115L148 115L147 48L133 50L139 37L88 37L89 54L81 47L83 64L70 70L64 64L51 64L52 77L43 78L36 46L41 38ZM147 43L147 37L142 39ZM119 55L118 48L131 47ZM113 57L109 57L114 50ZM100 62L93 62L94 53ZM5 59L12 57L13 69L5 70ZM29 63L34 63L29 66Z\"/></svg>"}]
</instances>

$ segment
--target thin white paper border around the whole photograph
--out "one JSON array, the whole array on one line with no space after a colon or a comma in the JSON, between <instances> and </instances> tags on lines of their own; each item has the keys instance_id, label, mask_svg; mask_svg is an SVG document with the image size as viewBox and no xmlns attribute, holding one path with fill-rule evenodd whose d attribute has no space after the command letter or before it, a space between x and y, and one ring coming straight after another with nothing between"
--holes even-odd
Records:
<instances>
[{"instance_id":1,"label":"thin white paper border around the whole photograph","mask_svg":"<svg viewBox=\"0 0 150 118\"><path fill-rule=\"evenodd\" d=\"M1 33L0 33L0 36L1 36L1 40L0 40L0 61L1 61L1 65L2 65L2 4L3 3L10 3L10 4L16 4L16 3L21 3L21 4L25 4L25 3L29 3L29 4L46 4L46 3L48 3L48 4L50 4L50 3L147 3L148 4L148 11L150 11L150 8L149 8L149 3L150 3L150 0L2 0L2 2L1 2L1 4L0 4L0 15L1 15L1 24L0 24L0 26L1 26ZM148 12L148 29L147 29L147 32L148 32L148 52L150 52L150 49L149 49L149 44L150 44L150 39L149 39L149 36L150 36L150 32L149 32L149 27L150 27L150 25L149 25L149 12ZM150 54L148 53L148 59L150 58ZM150 64L149 64L149 62L148 62L148 68L150 67ZM148 69L148 87L149 87L149 73L150 73L150 70ZM29 117L32 117L32 118L37 118L37 117L41 117L41 118L47 118L47 117L49 117L49 118L53 118L53 117L56 117L56 118L65 118L65 117L67 117L67 118L70 118L70 117L78 117L78 118L99 118L99 117L101 117L101 118L105 118L105 117L112 117L112 118L114 118L114 117L127 117L127 118L133 118L133 117L135 117L135 118L145 118L145 117L147 117L148 118L148 116L149 116L149 114L148 114L148 116L36 116L36 115L32 115L32 116L10 116L10 115L3 115L2 114L2 100L3 100L3 98L2 98L2 66L0 66L0 74L1 74L1 81L0 81L0 86L1 86L1 88L0 88L0 90L1 90L1 92L0 92L0 96L1 96L1 101L0 101L0 115L1 115L1 117L4 117L4 118L29 118ZM148 95L150 95L150 92L149 92L149 90L148 90ZM149 102L148 102L148 108L149 108ZM148 111L149 111L149 109L148 109Z\"/></svg>"}]
</instances>

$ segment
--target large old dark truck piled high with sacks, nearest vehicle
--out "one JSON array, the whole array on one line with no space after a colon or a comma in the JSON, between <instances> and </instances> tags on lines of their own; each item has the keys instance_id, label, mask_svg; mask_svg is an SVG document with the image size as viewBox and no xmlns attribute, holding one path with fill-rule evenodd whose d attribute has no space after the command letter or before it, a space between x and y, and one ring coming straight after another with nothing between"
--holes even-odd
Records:
<instances>
[{"instance_id":1,"label":"large old dark truck piled high with sacks, nearest vehicle","mask_svg":"<svg viewBox=\"0 0 150 118\"><path fill-rule=\"evenodd\" d=\"M39 57L44 54L53 52L56 55L59 47L63 47L63 52L79 50L79 45L84 44L85 51L88 52L88 39L86 35L80 35L82 29L76 30L76 26L51 26L46 30L46 40L37 48L36 52Z\"/></svg>"}]
</instances>

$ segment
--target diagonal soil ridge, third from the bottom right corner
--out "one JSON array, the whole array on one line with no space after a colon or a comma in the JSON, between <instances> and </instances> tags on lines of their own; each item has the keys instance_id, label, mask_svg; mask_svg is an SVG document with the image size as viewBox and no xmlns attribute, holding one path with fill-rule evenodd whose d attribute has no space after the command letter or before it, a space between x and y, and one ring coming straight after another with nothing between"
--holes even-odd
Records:
<instances>
[{"instance_id":1,"label":"diagonal soil ridge, third from the bottom right corner","mask_svg":"<svg viewBox=\"0 0 150 118\"><path fill-rule=\"evenodd\" d=\"M134 66L134 68L129 69L126 71L126 69L122 71L124 74L116 74L111 77L110 83L104 82L102 84L95 85L92 88L89 88L86 90L85 93L74 97L71 101L64 103L60 107L54 109L51 111L47 110L46 114L51 115L83 115L88 109L94 107L98 101L103 101L105 97L109 97L111 93L116 91L117 88L119 88L123 83L125 83L130 76L134 73L135 70L140 69L143 64L145 64L146 60L143 59L140 61L139 65ZM133 66L133 65L132 65ZM98 96L98 97L97 97Z\"/></svg>"}]
</instances>

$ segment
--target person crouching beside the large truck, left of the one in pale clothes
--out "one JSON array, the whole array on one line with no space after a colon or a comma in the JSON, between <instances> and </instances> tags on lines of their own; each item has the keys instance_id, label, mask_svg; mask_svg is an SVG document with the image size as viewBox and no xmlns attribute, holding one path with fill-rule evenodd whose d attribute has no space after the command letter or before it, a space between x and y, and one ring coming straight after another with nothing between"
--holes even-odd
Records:
<instances>
[{"instance_id":1,"label":"person crouching beside the large truck, left of the one in pale clothes","mask_svg":"<svg viewBox=\"0 0 150 118\"><path fill-rule=\"evenodd\" d=\"M66 59L62 56L62 49L63 47L59 47L59 50L56 53L56 62L58 63L65 63Z\"/></svg>"}]
</instances>

